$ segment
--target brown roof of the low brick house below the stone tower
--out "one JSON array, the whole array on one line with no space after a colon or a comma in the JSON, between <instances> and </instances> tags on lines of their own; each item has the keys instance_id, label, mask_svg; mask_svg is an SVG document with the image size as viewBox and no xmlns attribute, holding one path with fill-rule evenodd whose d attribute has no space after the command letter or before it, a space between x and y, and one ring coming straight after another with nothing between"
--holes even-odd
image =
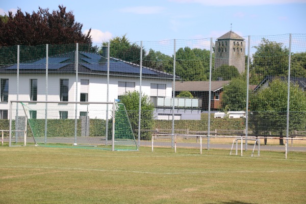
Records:
<instances>
[{"instance_id":1,"label":"brown roof of the low brick house below the stone tower","mask_svg":"<svg viewBox=\"0 0 306 204\"><path fill-rule=\"evenodd\" d=\"M211 90L218 91L230 81L212 81ZM175 83L175 91L209 91L209 81Z\"/></svg>"}]
</instances>

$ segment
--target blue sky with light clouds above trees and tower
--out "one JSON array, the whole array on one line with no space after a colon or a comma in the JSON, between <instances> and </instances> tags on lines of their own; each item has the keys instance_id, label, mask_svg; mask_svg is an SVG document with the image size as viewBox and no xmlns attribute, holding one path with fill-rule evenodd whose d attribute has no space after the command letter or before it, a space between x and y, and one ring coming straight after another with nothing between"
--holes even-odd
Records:
<instances>
[{"instance_id":1,"label":"blue sky with light clouds above trees and tower","mask_svg":"<svg viewBox=\"0 0 306 204\"><path fill-rule=\"evenodd\" d=\"M306 34L306 0L10 0L0 3L0 14L59 5L73 12L83 32L92 29L93 43L123 34L132 42L215 38L231 23L241 36Z\"/></svg>"}]
</instances>

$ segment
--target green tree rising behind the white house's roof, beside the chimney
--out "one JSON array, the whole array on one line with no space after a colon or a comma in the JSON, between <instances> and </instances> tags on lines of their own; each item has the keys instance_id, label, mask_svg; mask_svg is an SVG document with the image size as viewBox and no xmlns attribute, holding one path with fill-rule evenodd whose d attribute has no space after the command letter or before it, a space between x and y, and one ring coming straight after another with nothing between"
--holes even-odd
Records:
<instances>
[{"instance_id":1,"label":"green tree rising behind the white house's roof, beside the chimney","mask_svg":"<svg viewBox=\"0 0 306 204\"><path fill-rule=\"evenodd\" d=\"M107 42L103 42L103 45L107 46ZM140 51L140 46L135 42L130 42L126 37L126 34L122 35L121 37L117 36L110 39L110 57L139 64ZM145 57L145 54L145 50L143 49L142 58Z\"/></svg>"}]
</instances>

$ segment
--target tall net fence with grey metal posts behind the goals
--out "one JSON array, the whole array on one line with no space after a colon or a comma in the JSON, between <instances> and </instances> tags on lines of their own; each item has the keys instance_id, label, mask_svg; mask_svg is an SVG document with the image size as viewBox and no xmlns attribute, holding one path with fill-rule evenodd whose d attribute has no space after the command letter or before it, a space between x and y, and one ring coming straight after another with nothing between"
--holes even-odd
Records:
<instances>
[{"instance_id":1,"label":"tall net fence with grey metal posts behind the goals","mask_svg":"<svg viewBox=\"0 0 306 204\"><path fill-rule=\"evenodd\" d=\"M248 137L285 149L306 134L305 34L0 47L0 73L2 129L10 100L119 100L138 146L160 133L172 147L201 134L206 148Z\"/></svg>"}]
</instances>

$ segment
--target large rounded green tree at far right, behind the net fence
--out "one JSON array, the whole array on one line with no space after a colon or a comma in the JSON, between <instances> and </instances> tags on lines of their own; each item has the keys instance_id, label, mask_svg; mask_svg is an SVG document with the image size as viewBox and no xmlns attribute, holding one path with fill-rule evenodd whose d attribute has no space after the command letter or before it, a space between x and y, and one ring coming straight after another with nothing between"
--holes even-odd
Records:
<instances>
[{"instance_id":1,"label":"large rounded green tree at far right, behind the net fence","mask_svg":"<svg viewBox=\"0 0 306 204\"><path fill-rule=\"evenodd\" d=\"M250 126L255 134L279 133L286 130L288 84L275 79L270 86L250 97ZM306 93L290 84L290 131L306 128ZM283 144L283 140L280 140Z\"/></svg>"}]
</instances>

